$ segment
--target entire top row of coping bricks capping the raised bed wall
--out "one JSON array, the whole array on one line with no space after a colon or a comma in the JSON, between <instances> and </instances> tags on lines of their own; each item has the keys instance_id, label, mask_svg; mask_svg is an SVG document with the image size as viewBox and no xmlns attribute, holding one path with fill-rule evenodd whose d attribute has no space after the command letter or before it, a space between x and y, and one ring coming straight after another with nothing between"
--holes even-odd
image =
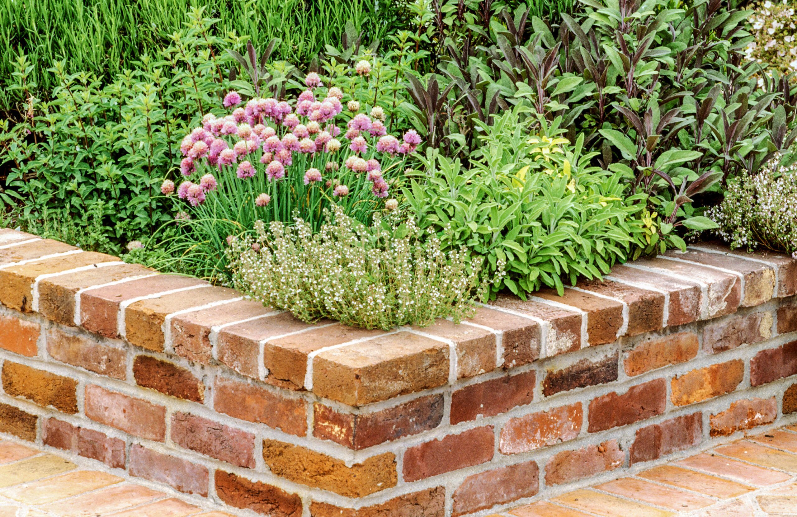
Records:
<instances>
[{"instance_id":1,"label":"entire top row of coping bricks capping the raised bed wall","mask_svg":"<svg viewBox=\"0 0 797 517\"><path fill-rule=\"evenodd\" d=\"M615 266L603 281L579 282L562 297L551 289L528 301L499 296L460 325L441 319L430 327L367 331L332 321L302 323L202 280L0 231L0 303L6 307L351 406L795 293L797 260L701 244ZM410 374L397 378L397 369Z\"/></svg>"}]
</instances>

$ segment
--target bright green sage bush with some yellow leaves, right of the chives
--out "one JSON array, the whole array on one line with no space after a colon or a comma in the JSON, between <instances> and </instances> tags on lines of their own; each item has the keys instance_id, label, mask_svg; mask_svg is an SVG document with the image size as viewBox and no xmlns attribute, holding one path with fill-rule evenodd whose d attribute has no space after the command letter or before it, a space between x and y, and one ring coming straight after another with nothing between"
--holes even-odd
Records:
<instances>
[{"instance_id":1,"label":"bright green sage bush with some yellow leaves, right of the chives","mask_svg":"<svg viewBox=\"0 0 797 517\"><path fill-rule=\"evenodd\" d=\"M486 276L498 277L493 296L508 288L525 297L544 285L561 293L563 278L599 278L658 230L644 194L630 196L618 175L590 166L595 153L583 153L583 135L570 145L559 119L540 119L535 135L523 114L515 108L481 126L470 170L429 151L404 191L443 249L486 257Z\"/></svg>"}]
</instances>

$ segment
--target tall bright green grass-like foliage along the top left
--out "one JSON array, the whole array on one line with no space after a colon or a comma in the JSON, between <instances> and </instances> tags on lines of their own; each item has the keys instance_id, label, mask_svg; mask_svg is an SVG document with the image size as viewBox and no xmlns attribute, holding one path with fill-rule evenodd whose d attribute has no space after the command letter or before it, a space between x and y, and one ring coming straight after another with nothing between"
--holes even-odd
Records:
<instances>
[{"instance_id":1,"label":"tall bright green grass-like foliage along the top left","mask_svg":"<svg viewBox=\"0 0 797 517\"><path fill-rule=\"evenodd\" d=\"M4 87L20 53L33 63L37 92L52 90L47 69L60 59L70 72L108 79L167 46L190 6L218 18L214 29L222 37L235 31L258 43L281 38L274 57L300 63L338 45L347 21L368 39L382 38L392 0L0 0L0 107L9 105Z\"/></svg>"}]
</instances>

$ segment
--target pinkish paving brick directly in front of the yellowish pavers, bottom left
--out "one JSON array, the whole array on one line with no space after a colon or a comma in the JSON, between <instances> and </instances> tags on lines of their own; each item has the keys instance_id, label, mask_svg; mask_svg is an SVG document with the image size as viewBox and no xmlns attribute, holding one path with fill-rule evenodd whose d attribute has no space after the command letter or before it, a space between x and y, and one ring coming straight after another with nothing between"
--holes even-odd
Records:
<instances>
[{"instance_id":1,"label":"pinkish paving brick directly in front of the yellowish pavers, bottom left","mask_svg":"<svg viewBox=\"0 0 797 517\"><path fill-rule=\"evenodd\" d=\"M62 517L93 517L108 515L114 511L127 510L139 504L149 503L166 494L135 484L120 484L111 488L92 492L65 501L58 501L41 507Z\"/></svg>"}]
</instances>

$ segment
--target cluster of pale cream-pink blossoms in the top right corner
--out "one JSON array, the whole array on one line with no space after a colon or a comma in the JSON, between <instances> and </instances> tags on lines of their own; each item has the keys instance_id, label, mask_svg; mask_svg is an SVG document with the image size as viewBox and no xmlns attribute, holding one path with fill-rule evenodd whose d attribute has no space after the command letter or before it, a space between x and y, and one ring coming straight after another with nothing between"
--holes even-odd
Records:
<instances>
[{"instance_id":1,"label":"cluster of pale cream-pink blossoms in the top right corner","mask_svg":"<svg viewBox=\"0 0 797 517\"><path fill-rule=\"evenodd\" d=\"M797 25L795 0L766 2L755 6L749 21L755 38L748 43L745 55L775 67L782 73L797 71Z\"/></svg>"}]
</instances>

